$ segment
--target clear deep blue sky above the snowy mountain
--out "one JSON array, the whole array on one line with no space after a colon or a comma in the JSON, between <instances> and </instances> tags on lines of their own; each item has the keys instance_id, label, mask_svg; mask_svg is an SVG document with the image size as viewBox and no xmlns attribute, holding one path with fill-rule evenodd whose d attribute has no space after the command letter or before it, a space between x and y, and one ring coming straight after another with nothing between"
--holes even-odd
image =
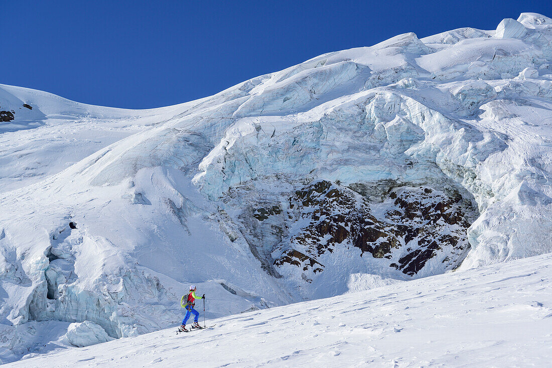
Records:
<instances>
[{"instance_id":1,"label":"clear deep blue sky above the snowy mountain","mask_svg":"<svg viewBox=\"0 0 552 368\"><path fill-rule=\"evenodd\" d=\"M153 108L205 97L325 52L471 26L552 1L2 2L0 83Z\"/></svg>"}]
</instances>

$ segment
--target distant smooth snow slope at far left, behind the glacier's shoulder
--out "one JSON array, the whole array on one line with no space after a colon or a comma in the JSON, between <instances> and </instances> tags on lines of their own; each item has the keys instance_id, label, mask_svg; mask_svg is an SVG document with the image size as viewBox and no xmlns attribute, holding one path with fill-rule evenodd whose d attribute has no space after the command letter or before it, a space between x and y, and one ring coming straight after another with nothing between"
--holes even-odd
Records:
<instances>
[{"instance_id":1,"label":"distant smooth snow slope at far left, behind the glacier's shoulder","mask_svg":"<svg viewBox=\"0 0 552 368\"><path fill-rule=\"evenodd\" d=\"M14 119L0 122L0 192L59 173L100 148L157 124L175 109L104 108L1 84L0 110L8 106Z\"/></svg>"}]
</instances>

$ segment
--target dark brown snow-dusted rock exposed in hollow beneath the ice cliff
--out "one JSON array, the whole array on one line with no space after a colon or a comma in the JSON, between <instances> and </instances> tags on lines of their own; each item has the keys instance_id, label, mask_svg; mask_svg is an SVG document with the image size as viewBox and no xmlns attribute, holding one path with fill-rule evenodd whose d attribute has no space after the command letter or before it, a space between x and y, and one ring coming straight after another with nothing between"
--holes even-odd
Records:
<instances>
[{"instance_id":1,"label":"dark brown snow-dusted rock exposed in hollow beneath the ice cliff","mask_svg":"<svg viewBox=\"0 0 552 368\"><path fill-rule=\"evenodd\" d=\"M295 191L287 217L292 223L307 220L307 225L290 235L287 248L283 243L282 256L274 265L288 263L307 270L338 246L388 259L389 266L410 276L434 257L445 269L458 265L469 249L466 229L474 211L469 201L454 190L445 194L428 186L385 184L388 189L378 188L378 193L385 194L383 205L388 210L378 218L367 198L359 195L376 193L374 184L355 184L352 190L321 181ZM262 221L270 214L271 210L258 210L256 217Z\"/></svg>"}]
</instances>

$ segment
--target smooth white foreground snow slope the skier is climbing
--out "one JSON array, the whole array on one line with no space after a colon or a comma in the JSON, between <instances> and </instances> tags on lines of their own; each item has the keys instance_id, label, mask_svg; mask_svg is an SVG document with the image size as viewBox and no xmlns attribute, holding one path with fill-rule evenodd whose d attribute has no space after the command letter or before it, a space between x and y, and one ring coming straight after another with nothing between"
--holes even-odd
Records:
<instances>
[{"instance_id":1,"label":"smooth white foreground snow slope the skier is climbing","mask_svg":"<svg viewBox=\"0 0 552 368\"><path fill-rule=\"evenodd\" d=\"M7 366L546 367L552 253L206 323Z\"/></svg>"}]
</instances>

